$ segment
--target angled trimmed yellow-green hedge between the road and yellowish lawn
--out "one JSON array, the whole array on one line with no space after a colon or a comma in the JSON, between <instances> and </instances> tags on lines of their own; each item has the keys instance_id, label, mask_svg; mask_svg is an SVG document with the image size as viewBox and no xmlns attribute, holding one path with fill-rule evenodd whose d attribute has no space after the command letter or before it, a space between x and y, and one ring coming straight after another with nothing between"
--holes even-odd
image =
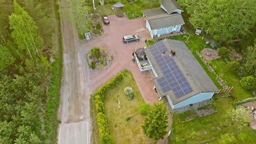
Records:
<instances>
[{"instance_id":1,"label":"angled trimmed yellow-green hedge between the road and yellowish lawn","mask_svg":"<svg viewBox=\"0 0 256 144\"><path fill-rule=\"evenodd\" d=\"M100 133L102 143L114 143L112 137L109 135L107 117L104 115L104 94L123 80L125 73L127 73L127 70L121 71L118 75L114 76L112 80L103 85L92 95L92 97L95 99L98 131Z\"/></svg>"}]
</instances>

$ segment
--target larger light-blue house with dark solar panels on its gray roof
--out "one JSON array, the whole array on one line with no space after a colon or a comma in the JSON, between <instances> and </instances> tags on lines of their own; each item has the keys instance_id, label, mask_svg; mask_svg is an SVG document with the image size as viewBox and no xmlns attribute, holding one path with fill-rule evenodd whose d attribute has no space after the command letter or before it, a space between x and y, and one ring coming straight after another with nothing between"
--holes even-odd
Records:
<instances>
[{"instance_id":1,"label":"larger light-blue house with dark solar panels on its gray roof","mask_svg":"<svg viewBox=\"0 0 256 144\"><path fill-rule=\"evenodd\" d=\"M164 39L145 52L155 91L172 109L211 99L219 92L183 41Z\"/></svg>"}]
</instances>

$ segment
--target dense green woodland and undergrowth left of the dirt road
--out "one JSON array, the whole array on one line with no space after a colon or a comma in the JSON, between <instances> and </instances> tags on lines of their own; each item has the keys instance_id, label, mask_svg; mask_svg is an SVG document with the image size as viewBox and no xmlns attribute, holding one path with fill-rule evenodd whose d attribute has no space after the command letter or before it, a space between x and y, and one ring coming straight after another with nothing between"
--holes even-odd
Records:
<instances>
[{"instance_id":1,"label":"dense green woodland and undergrowth left of the dirt road","mask_svg":"<svg viewBox=\"0 0 256 144\"><path fill-rule=\"evenodd\" d=\"M0 5L0 143L55 143L62 70L58 5ZM57 57L52 64L50 57Z\"/></svg>"}]
</instances>

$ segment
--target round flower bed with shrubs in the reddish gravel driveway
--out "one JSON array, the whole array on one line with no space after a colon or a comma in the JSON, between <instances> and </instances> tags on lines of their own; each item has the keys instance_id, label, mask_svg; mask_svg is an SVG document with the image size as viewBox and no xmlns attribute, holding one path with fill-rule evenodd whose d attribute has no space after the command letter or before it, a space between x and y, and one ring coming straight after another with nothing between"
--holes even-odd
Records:
<instances>
[{"instance_id":1,"label":"round flower bed with shrubs in the reddish gravel driveway","mask_svg":"<svg viewBox=\"0 0 256 144\"><path fill-rule=\"evenodd\" d=\"M106 69L112 62L112 57L105 49L94 47L87 53L89 67L93 70Z\"/></svg>"}]
</instances>

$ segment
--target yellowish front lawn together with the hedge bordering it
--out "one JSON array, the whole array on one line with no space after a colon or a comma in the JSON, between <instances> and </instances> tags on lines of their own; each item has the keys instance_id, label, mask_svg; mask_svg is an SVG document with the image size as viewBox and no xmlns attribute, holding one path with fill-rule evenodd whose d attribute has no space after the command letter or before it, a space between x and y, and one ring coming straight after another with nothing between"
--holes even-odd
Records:
<instances>
[{"instance_id":1,"label":"yellowish front lawn together with the hedge bordering it","mask_svg":"<svg viewBox=\"0 0 256 144\"><path fill-rule=\"evenodd\" d=\"M126 87L133 89L132 100L124 93ZM91 99L94 100L91 100L92 119L95 119L96 115L102 114L107 119L107 122L104 122L104 128L99 124L102 121L94 122L94 142L100 143L99 139L102 142L106 142L102 140L104 137L102 137L102 134L106 134L105 137L108 137L107 142L109 143L154 143L153 140L148 139L143 134L142 128L138 127L145 118L144 115L139 113L139 105L144 104L144 101L130 71L121 71L121 73L98 89ZM149 107L151 106L149 105Z\"/></svg>"}]
</instances>

